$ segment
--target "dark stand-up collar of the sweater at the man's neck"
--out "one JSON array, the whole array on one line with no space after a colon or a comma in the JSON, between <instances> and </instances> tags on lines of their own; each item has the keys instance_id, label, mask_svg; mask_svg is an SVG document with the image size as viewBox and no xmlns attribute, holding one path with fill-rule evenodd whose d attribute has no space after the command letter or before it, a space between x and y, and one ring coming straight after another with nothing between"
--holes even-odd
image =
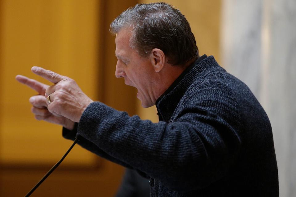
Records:
<instances>
[{"instance_id":1,"label":"dark stand-up collar of the sweater at the man's neck","mask_svg":"<svg viewBox=\"0 0 296 197\"><path fill-rule=\"evenodd\" d=\"M159 121L168 122L170 120L180 99L195 80L194 78L207 69L207 62L212 59L215 60L213 56L208 57L205 54L199 57L195 62L188 66L171 86L156 100L155 105ZM193 81L191 82L191 80Z\"/></svg>"}]
</instances>

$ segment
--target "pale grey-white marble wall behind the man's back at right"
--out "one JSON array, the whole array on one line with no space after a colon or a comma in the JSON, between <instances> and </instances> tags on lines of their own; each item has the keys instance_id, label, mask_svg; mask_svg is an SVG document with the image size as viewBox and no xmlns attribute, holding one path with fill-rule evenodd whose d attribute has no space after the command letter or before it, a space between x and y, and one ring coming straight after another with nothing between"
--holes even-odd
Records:
<instances>
[{"instance_id":1,"label":"pale grey-white marble wall behind the man's back at right","mask_svg":"<svg viewBox=\"0 0 296 197\"><path fill-rule=\"evenodd\" d=\"M244 81L273 127L280 196L296 196L296 1L224 0L221 65Z\"/></svg>"}]
</instances>

